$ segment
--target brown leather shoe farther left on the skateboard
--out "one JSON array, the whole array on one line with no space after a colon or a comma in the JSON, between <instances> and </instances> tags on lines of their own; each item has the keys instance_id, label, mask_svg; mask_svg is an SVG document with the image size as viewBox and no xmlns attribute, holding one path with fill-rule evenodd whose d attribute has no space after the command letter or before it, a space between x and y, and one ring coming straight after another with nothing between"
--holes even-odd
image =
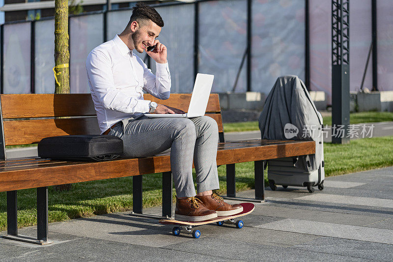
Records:
<instances>
[{"instance_id":1,"label":"brown leather shoe farther left on the skateboard","mask_svg":"<svg viewBox=\"0 0 393 262\"><path fill-rule=\"evenodd\" d=\"M196 197L187 199L176 197L175 220L195 222L216 217L216 211L207 209Z\"/></svg>"}]
</instances>

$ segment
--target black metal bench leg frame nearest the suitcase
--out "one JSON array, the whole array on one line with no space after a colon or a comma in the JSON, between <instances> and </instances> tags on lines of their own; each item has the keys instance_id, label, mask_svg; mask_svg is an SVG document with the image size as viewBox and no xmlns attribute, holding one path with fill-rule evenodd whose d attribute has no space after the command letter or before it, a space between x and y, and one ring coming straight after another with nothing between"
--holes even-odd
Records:
<instances>
[{"instance_id":1,"label":"black metal bench leg frame nearest the suitcase","mask_svg":"<svg viewBox=\"0 0 393 262\"><path fill-rule=\"evenodd\" d=\"M265 188L264 188L264 180L263 180L263 161L255 161L254 167L255 167L255 171L254 171L255 172L255 199L236 197L235 164L226 165L226 196L221 196L221 197L223 199L237 200L237 201L247 201L247 202L256 202L256 203L264 202Z\"/></svg>"}]
</instances>

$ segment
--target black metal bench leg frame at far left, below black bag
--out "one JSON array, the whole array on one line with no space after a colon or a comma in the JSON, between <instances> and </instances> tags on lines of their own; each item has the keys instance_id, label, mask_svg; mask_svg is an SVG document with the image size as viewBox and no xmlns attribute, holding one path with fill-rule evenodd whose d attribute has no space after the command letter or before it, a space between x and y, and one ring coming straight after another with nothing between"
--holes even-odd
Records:
<instances>
[{"instance_id":1,"label":"black metal bench leg frame at far left, below black bag","mask_svg":"<svg viewBox=\"0 0 393 262\"><path fill-rule=\"evenodd\" d=\"M37 238L18 234L17 191L7 192L7 235L3 238L45 245L48 241L48 187L37 188Z\"/></svg>"}]
</instances>

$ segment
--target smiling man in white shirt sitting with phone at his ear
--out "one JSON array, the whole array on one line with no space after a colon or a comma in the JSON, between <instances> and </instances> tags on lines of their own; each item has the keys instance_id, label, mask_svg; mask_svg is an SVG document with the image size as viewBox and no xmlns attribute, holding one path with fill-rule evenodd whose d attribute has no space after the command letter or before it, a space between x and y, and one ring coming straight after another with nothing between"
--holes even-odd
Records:
<instances>
[{"instance_id":1,"label":"smiling man in white shirt sitting with phone at his ear","mask_svg":"<svg viewBox=\"0 0 393 262\"><path fill-rule=\"evenodd\" d=\"M146 157L170 148L170 169L177 194L176 220L202 221L240 213L243 210L240 204L226 204L212 192L219 188L216 121L208 116L148 118L143 115L147 112L184 114L143 100L143 90L159 99L169 98L167 47L156 39L162 27L164 22L153 7L137 3L124 31L88 55L88 85L101 132L123 140L123 157ZM154 45L152 51L146 50ZM134 49L139 53L145 51L156 61L156 75L133 54ZM198 194L192 175L193 160Z\"/></svg>"}]
</instances>

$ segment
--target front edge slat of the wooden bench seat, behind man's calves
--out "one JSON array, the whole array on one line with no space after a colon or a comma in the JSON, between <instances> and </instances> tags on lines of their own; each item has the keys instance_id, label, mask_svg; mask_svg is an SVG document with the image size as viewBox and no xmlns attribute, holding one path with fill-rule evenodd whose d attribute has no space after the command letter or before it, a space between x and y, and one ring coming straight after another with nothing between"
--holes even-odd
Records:
<instances>
[{"instance_id":1,"label":"front edge slat of the wooden bench seat, behind man's calves","mask_svg":"<svg viewBox=\"0 0 393 262\"><path fill-rule=\"evenodd\" d=\"M261 141L261 143L264 142ZM263 146L255 146L254 142L249 143L248 146L245 142L240 144L246 147L218 150L217 164L225 165L315 153L314 141L277 142L277 144ZM169 170L168 155L108 162L57 162L45 165L32 164L27 167L5 167L0 175L0 192Z\"/></svg>"}]
</instances>

